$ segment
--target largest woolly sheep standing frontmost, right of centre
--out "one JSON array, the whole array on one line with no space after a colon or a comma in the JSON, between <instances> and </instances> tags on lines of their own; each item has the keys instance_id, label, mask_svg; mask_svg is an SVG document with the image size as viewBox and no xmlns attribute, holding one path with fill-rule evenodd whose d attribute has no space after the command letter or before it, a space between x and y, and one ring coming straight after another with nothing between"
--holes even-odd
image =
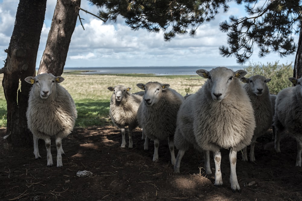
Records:
<instances>
[{"instance_id":1,"label":"largest woolly sheep standing frontmost, right of centre","mask_svg":"<svg viewBox=\"0 0 302 201\"><path fill-rule=\"evenodd\" d=\"M213 152L216 186L223 185L220 149L229 149L231 188L240 191L236 175L237 152L251 143L255 129L252 103L240 82L247 72L217 67L211 71L200 69L196 73L207 81L183 103L177 117L182 124L178 123L177 129L185 137L193 130L195 146ZM180 163L182 153L178 151L176 164Z\"/></svg>"}]
</instances>

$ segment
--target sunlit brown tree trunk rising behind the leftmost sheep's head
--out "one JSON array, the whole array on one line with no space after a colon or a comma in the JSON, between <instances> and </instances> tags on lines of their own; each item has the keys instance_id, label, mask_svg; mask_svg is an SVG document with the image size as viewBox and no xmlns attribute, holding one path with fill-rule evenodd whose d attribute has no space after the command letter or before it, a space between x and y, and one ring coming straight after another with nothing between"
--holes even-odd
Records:
<instances>
[{"instance_id":1,"label":"sunlit brown tree trunk rising behind the leftmost sheep's head","mask_svg":"<svg viewBox=\"0 0 302 201\"><path fill-rule=\"evenodd\" d=\"M63 73L80 4L81 0L57 0L38 74L59 76Z\"/></svg>"}]
</instances>

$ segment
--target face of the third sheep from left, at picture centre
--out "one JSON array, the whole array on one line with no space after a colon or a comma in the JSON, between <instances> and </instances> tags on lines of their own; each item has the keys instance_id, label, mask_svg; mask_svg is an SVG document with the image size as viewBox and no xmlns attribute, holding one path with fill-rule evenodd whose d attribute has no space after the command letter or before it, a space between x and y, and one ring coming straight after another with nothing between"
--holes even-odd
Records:
<instances>
[{"instance_id":1,"label":"face of the third sheep from left, at picture centre","mask_svg":"<svg viewBox=\"0 0 302 201\"><path fill-rule=\"evenodd\" d=\"M148 82L146 84L138 83L137 86L140 89L145 90L143 99L146 105L152 106L159 101L162 91L168 89L170 85L158 82Z\"/></svg>"}]
</instances>

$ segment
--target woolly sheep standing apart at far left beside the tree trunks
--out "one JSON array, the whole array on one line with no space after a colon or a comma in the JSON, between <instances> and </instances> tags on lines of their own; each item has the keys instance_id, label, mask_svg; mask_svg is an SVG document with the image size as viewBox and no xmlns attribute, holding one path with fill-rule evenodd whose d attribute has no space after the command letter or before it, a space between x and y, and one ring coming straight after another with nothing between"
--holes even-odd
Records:
<instances>
[{"instance_id":1,"label":"woolly sheep standing apart at far left beside the tree trunks","mask_svg":"<svg viewBox=\"0 0 302 201\"><path fill-rule=\"evenodd\" d=\"M34 155L41 158L38 139L45 141L47 151L47 166L53 166L50 152L51 137L56 137L57 167L62 167L62 139L68 136L78 117L76 105L63 86L61 76L40 74L36 77L26 77L25 81L33 86L29 92L28 108L26 112L27 126L33 133Z\"/></svg>"}]
</instances>

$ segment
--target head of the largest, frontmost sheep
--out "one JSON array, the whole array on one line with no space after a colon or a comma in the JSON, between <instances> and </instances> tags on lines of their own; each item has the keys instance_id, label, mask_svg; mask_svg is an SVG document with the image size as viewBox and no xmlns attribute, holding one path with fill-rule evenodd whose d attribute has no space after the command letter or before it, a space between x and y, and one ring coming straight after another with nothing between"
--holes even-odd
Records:
<instances>
[{"instance_id":1,"label":"head of the largest, frontmost sheep","mask_svg":"<svg viewBox=\"0 0 302 201\"><path fill-rule=\"evenodd\" d=\"M211 71L204 69L197 70L196 73L204 78L207 78L207 87L210 90L212 99L216 102L221 102L228 96L236 80L244 77L246 71L238 70L236 72L225 67L217 67Z\"/></svg>"}]
</instances>

